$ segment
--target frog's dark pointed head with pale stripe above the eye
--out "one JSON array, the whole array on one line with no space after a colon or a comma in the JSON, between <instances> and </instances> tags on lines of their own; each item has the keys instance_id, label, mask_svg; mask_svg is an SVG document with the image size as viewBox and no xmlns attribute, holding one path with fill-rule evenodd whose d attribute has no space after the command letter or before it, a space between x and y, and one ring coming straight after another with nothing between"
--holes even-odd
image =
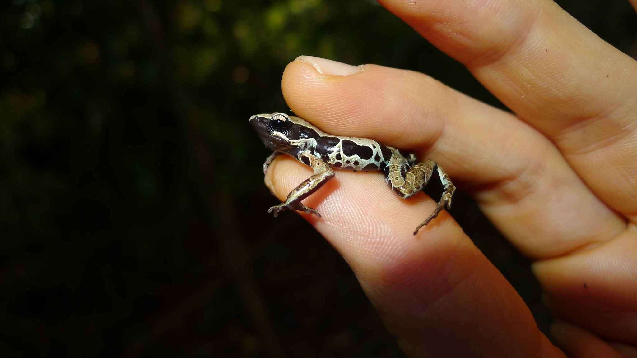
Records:
<instances>
[{"instance_id":1,"label":"frog's dark pointed head with pale stripe above the eye","mask_svg":"<svg viewBox=\"0 0 637 358\"><path fill-rule=\"evenodd\" d=\"M290 148L288 131L293 122L285 113L263 113L250 117L250 124L271 150Z\"/></svg>"}]
</instances>

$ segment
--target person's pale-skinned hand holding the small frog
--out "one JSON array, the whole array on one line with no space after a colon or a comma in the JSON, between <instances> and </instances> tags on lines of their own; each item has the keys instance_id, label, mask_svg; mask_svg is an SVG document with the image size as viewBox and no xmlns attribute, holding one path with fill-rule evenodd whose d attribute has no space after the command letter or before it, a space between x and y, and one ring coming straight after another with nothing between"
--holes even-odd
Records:
<instances>
[{"instance_id":1,"label":"person's pale-skinned hand holding the small frog","mask_svg":"<svg viewBox=\"0 0 637 358\"><path fill-rule=\"evenodd\" d=\"M313 57L285 69L287 103L326 132L443 166L533 260L557 347L448 213L412 236L436 205L425 194L340 171L304 201L322 218L301 215L412 357L637 357L637 62L548 0L379 2L513 113L420 73ZM283 200L310 175L281 155L266 183Z\"/></svg>"}]
</instances>

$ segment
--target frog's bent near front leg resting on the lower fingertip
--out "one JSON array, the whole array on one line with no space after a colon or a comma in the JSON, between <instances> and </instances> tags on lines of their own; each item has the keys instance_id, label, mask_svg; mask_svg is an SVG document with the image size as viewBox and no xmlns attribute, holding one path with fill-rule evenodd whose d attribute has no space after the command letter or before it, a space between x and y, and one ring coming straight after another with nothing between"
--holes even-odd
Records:
<instances>
[{"instance_id":1,"label":"frog's bent near front leg resting on the lower fingertip","mask_svg":"<svg viewBox=\"0 0 637 358\"><path fill-rule=\"evenodd\" d=\"M296 188L294 188L294 190L288 194L287 199L285 199L283 203L269 208L268 213L273 213L275 217L278 215L279 211L283 210L300 210L306 213L313 213L320 217L318 211L301 204L301 200L310 196L310 194L322 187L323 184L327 183L327 181L334 176L334 170L320 158L311 155L308 150L299 153L299 159L305 164L309 163L311 168L314 170L314 173L310 176L310 178L307 178L303 181L303 183L300 183Z\"/></svg>"}]
</instances>

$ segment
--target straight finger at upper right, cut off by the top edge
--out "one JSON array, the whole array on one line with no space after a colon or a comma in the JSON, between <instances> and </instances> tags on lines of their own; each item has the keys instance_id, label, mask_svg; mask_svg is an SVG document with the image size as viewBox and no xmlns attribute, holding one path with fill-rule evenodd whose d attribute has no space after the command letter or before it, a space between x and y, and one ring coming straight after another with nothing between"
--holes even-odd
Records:
<instances>
[{"instance_id":1,"label":"straight finger at upper right, cut off by the top edge","mask_svg":"<svg viewBox=\"0 0 637 358\"><path fill-rule=\"evenodd\" d=\"M637 62L538 1L381 0L557 144L613 209L637 215Z\"/></svg>"}]
</instances>

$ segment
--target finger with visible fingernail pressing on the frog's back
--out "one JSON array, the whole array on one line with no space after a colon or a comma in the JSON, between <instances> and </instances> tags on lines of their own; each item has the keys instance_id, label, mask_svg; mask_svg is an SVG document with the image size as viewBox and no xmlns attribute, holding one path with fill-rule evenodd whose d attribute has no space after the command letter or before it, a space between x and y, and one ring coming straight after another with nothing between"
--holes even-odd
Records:
<instances>
[{"instance_id":1,"label":"finger with visible fingernail pressing on the frog's back","mask_svg":"<svg viewBox=\"0 0 637 358\"><path fill-rule=\"evenodd\" d=\"M626 229L549 141L509 113L412 71L327 70L337 69L321 74L304 61L287 66L283 95L297 115L331 134L420 148L421 158L438 161L452 180L474 190L482 210L525 254L554 257Z\"/></svg>"}]
</instances>

